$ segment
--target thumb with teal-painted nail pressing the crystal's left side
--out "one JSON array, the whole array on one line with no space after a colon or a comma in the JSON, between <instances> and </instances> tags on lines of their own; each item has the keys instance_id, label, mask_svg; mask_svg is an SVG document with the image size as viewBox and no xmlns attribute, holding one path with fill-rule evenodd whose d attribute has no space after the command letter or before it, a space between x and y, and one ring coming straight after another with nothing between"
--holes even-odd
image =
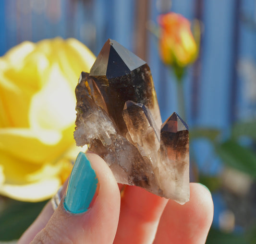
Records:
<instances>
[{"instance_id":1,"label":"thumb with teal-painted nail pressing the crystal's left side","mask_svg":"<svg viewBox=\"0 0 256 244\"><path fill-rule=\"evenodd\" d=\"M120 192L109 166L96 154L80 152L66 196L32 244L112 243L119 211Z\"/></svg>"}]
</instances>

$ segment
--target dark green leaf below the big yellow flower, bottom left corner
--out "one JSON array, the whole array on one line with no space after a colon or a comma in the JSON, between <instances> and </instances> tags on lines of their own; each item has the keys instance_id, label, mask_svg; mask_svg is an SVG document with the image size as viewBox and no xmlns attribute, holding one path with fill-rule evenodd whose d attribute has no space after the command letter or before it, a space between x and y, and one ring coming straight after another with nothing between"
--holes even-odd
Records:
<instances>
[{"instance_id":1,"label":"dark green leaf below the big yellow flower, bottom left corner","mask_svg":"<svg viewBox=\"0 0 256 244\"><path fill-rule=\"evenodd\" d=\"M19 239L45 204L46 201L31 203L8 200L7 207L0 212L0 241Z\"/></svg>"}]
</instances>

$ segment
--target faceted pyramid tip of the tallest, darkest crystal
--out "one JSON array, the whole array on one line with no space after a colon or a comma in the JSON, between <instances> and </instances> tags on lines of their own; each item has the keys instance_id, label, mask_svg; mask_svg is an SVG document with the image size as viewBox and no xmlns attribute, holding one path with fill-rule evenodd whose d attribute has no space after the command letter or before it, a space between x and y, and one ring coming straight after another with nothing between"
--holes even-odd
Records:
<instances>
[{"instance_id":1,"label":"faceted pyramid tip of the tallest, darkest crystal","mask_svg":"<svg viewBox=\"0 0 256 244\"><path fill-rule=\"evenodd\" d=\"M132 70L146 64L141 58L112 39L108 39L96 58L91 76L106 76L107 79L130 74Z\"/></svg>"}]
</instances>

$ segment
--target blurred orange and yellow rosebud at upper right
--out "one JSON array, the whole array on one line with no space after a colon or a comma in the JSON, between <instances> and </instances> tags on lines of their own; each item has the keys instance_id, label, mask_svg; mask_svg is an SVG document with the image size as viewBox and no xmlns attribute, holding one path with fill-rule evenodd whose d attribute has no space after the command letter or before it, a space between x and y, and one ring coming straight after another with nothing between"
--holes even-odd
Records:
<instances>
[{"instance_id":1,"label":"blurred orange and yellow rosebud at upper right","mask_svg":"<svg viewBox=\"0 0 256 244\"><path fill-rule=\"evenodd\" d=\"M159 52L166 65L185 67L197 57L198 48L190 22L181 14L169 12L159 16Z\"/></svg>"}]
</instances>

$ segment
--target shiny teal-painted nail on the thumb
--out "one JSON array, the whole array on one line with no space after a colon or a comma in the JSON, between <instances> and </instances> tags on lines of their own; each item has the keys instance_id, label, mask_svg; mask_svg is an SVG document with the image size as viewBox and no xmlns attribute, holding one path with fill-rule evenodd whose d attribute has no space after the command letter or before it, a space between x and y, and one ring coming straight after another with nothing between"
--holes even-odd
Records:
<instances>
[{"instance_id":1,"label":"shiny teal-painted nail on the thumb","mask_svg":"<svg viewBox=\"0 0 256 244\"><path fill-rule=\"evenodd\" d=\"M98 178L84 152L79 152L67 187L64 207L71 213L88 210L95 195Z\"/></svg>"}]
</instances>

